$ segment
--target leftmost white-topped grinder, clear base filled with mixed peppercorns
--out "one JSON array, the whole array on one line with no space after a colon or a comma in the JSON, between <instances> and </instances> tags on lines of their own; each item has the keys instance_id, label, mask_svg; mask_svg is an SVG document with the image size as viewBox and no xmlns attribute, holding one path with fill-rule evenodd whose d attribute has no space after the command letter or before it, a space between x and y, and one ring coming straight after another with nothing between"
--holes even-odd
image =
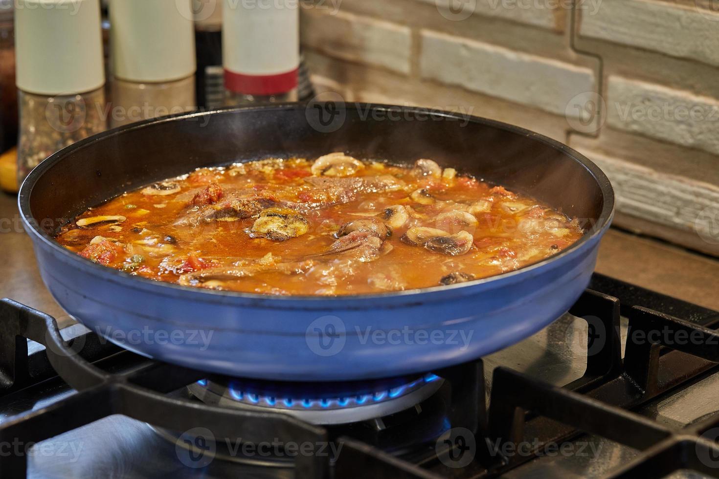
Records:
<instances>
[{"instance_id":1,"label":"leftmost white-topped grinder, clear base filled with mixed peppercorns","mask_svg":"<svg viewBox=\"0 0 719 479\"><path fill-rule=\"evenodd\" d=\"M18 179L106 129L99 0L17 0Z\"/></svg>"}]
</instances>

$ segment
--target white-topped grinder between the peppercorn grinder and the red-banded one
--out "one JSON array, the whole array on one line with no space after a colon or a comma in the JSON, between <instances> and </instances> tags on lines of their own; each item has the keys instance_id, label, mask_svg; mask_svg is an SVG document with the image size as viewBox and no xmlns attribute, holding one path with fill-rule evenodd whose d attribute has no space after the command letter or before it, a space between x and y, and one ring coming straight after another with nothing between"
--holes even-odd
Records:
<instances>
[{"instance_id":1,"label":"white-topped grinder between the peppercorn grinder and the red-banded one","mask_svg":"<svg viewBox=\"0 0 719 479\"><path fill-rule=\"evenodd\" d=\"M111 126L196 108L192 0L111 0Z\"/></svg>"}]
</instances>

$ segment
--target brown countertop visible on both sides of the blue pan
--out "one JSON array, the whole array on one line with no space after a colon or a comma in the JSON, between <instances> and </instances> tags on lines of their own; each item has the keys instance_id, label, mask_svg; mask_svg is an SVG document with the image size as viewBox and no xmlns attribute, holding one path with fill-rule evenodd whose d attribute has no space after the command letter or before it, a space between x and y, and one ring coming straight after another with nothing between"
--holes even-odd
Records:
<instances>
[{"instance_id":1,"label":"brown countertop visible on both sides of the blue pan","mask_svg":"<svg viewBox=\"0 0 719 479\"><path fill-rule=\"evenodd\" d=\"M71 322L42 284L17 197L1 192L0 251L0 297L47 312L60 327ZM597 271L719 310L719 261L667 243L610 230L600 246Z\"/></svg>"}]
</instances>

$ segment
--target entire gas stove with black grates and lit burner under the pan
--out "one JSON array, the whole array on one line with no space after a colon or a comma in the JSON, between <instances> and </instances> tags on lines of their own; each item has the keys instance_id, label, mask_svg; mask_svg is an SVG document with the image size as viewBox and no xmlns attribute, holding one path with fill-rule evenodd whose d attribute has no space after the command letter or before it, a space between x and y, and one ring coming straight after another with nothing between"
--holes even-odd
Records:
<instances>
[{"instance_id":1,"label":"entire gas stove with black grates and lit burner under the pan","mask_svg":"<svg viewBox=\"0 0 719 479\"><path fill-rule=\"evenodd\" d=\"M480 360L278 383L153 361L4 299L0 477L717 476L716 327L595 274L567 315Z\"/></svg>"}]
</instances>

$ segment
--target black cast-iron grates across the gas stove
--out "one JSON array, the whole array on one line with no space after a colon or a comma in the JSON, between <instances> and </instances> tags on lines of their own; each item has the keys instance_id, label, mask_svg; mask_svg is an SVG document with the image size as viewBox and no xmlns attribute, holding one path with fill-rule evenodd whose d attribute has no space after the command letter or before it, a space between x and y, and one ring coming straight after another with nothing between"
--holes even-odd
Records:
<instances>
[{"instance_id":1,"label":"black cast-iron grates across the gas stove","mask_svg":"<svg viewBox=\"0 0 719 479\"><path fill-rule=\"evenodd\" d=\"M298 455L295 476L495 477L532 460L546 445L581 434L641 450L613 478L661 478L684 469L718 475L719 445L705 434L719 427L719 414L676 430L631 409L717 367L719 314L598 274L591 287L570 310L587 321L587 348L595 349L587 354L582 378L560 388L497 368L487 411L481 360L433 371L451 389L447 419L452 429L440 442L444 449L406 460L339 437L342 452L334 461L327 455ZM629 321L624 361L620 315ZM29 351L27 340L45 349ZM335 440L326 428L283 414L207 406L170 394L208 374L140 358L103 343L92 332L66 343L52 317L9 299L0 301L0 401L58 375L79 392L0 424L0 443L40 442L111 414L175 431L205 427L216 437L247 442L281 437L320 445ZM536 439L528 455L504 457L490 446L516 445L528 437ZM470 461L465 461L470 450ZM462 468L449 467L453 462L462 462ZM0 457L0 477L26 475L27 457Z\"/></svg>"}]
</instances>

